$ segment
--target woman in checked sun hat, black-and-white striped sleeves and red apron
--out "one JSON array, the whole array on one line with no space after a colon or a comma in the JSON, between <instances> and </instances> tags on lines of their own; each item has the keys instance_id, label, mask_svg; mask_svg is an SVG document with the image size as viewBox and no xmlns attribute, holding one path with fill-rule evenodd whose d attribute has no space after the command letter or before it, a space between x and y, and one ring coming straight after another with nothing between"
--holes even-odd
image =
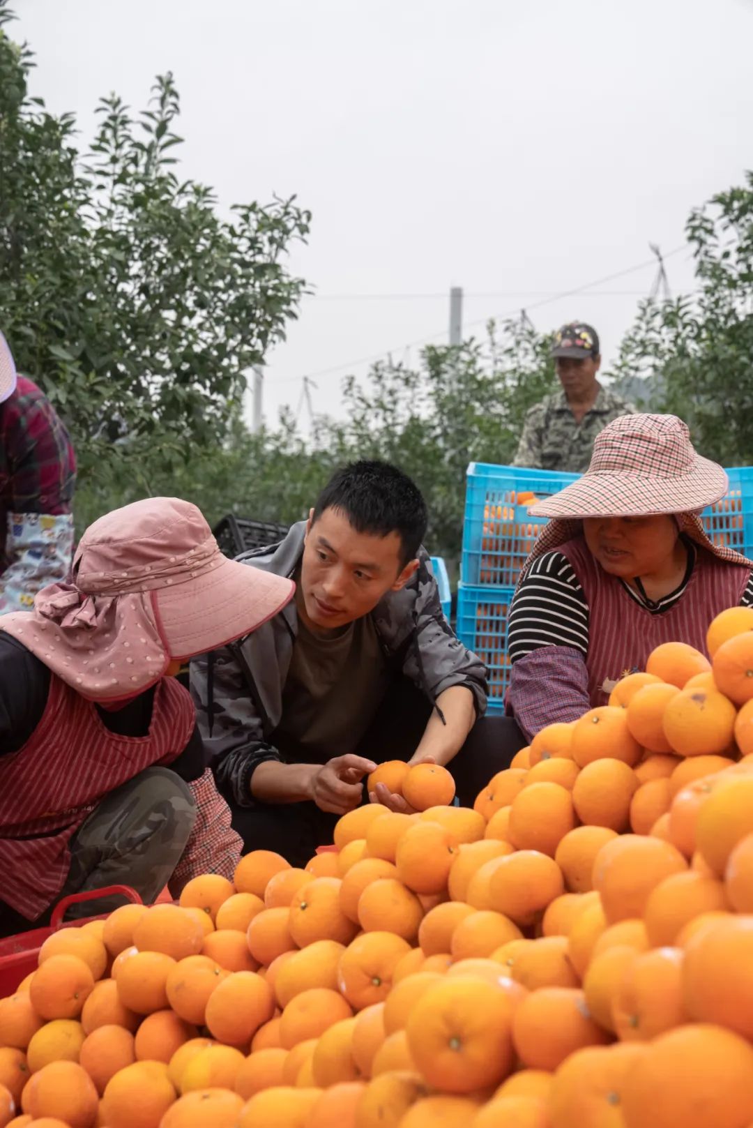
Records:
<instances>
[{"instance_id":1,"label":"woman in checked sun hat, black-and-white striped sleeves and red apron","mask_svg":"<svg viewBox=\"0 0 753 1128\"><path fill-rule=\"evenodd\" d=\"M706 650L710 620L753 606L753 562L709 540L700 511L727 492L674 415L622 415L586 474L529 512L551 520L510 608L508 712L530 739L605 705L663 642Z\"/></svg>"}]
</instances>

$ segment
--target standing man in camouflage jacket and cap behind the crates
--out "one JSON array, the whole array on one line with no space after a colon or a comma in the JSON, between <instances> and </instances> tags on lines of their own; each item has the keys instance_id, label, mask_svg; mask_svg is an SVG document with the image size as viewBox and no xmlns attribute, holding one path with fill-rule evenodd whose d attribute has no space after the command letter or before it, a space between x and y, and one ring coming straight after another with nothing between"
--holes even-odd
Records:
<instances>
[{"instance_id":1,"label":"standing man in camouflage jacket and cap behind the crates","mask_svg":"<svg viewBox=\"0 0 753 1128\"><path fill-rule=\"evenodd\" d=\"M599 336L590 325L564 325L551 354L562 390L529 409L513 466L585 474L599 432L635 407L599 384Z\"/></svg>"}]
</instances>

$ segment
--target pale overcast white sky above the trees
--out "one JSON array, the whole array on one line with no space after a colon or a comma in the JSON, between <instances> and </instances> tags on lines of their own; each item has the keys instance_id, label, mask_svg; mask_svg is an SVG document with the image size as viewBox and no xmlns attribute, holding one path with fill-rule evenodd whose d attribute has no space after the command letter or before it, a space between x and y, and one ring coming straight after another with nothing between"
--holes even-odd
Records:
<instances>
[{"instance_id":1,"label":"pale overcast white sky above the trees","mask_svg":"<svg viewBox=\"0 0 753 1128\"><path fill-rule=\"evenodd\" d=\"M753 167L753 0L15 0L33 94L94 129L172 70L183 171L222 205L296 193L291 267L316 288L269 358L265 417L337 414L347 372L525 306L592 321L614 354L689 210ZM673 291L692 285L685 252ZM609 293L605 293L609 291ZM390 297L364 297L390 296ZM396 297L401 296L401 297ZM405 297L411 296L411 297ZM419 296L419 297L416 297ZM326 371L322 371L326 370ZM301 422L308 424L304 413Z\"/></svg>"}]
</instances>

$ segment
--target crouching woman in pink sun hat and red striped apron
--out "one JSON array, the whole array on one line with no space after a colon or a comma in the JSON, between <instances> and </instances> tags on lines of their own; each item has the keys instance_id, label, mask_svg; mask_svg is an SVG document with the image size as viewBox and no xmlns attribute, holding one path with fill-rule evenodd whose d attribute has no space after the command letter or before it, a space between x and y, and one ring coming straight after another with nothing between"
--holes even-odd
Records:
<instances>
[{"instance_id":1,"label":"crouching woman in pink sun hat and red striped apron","mask_svg":"<svg viewBox=\"0 0 753 1128\"><path fill-rule=\"evenodd\" d=\"M225 559L195 505L153 497L91 525L72 582L0 618L0 935L64 893L151 901L170 879L232 876L240 839L170 675L293 591Z\"/></svg>"}]
</instances>

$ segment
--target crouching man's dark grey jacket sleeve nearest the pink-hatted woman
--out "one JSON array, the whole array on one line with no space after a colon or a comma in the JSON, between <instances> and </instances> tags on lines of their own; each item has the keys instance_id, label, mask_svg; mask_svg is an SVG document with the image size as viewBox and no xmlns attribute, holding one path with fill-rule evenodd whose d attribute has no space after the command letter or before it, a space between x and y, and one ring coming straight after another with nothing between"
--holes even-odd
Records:
<instances>
[{"instance_id":1,"label":"crouching man's dark grey jacket sleeve nearest the pink-hatted woman","mask_svg":"<svg viewBox=\"0 0 753 1128\"><path fill-rule=\"evenodd\" d=\"M254 772L281 756L264 739L262 717L232 650L223 647L192 661L191 693L218 788L239 807L255 807Z\"/></svg>"}]
</instances>

